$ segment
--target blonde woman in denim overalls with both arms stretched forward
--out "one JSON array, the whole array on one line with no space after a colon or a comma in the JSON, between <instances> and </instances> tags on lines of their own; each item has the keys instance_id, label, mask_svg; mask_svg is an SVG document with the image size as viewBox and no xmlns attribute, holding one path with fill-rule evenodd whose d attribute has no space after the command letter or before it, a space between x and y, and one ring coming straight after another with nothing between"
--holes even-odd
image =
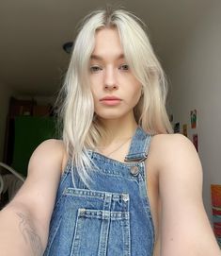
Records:
<instances>
[{"instance_id":1,"label":"blonde woman in denim overalls with both arms stretched forward","mask_svg":"<svg viewBox=\"0 0 221 256\"><path fill-rule=\"evenodd\" d=\"M169 134L166 79L142 26L122 9L84 20L61 94L63 140L39 145L2 211L3 255L220 255L197 152Z\"/></svg>"}]
</instances>

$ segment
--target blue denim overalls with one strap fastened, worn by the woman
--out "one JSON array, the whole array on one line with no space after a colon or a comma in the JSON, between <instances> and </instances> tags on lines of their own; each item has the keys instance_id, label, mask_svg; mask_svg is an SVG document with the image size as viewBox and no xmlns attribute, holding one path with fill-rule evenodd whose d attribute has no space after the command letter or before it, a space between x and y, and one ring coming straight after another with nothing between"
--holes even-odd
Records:
<instances>
[{"instance_id":1,"label":"blue denim overalls with one strap fastened, worn by the woman","mask_svg":"<svg viewBox=\"0 0 221 256\"><path fill-rule=\"evenodd\" d=\"M150 138L136 128L125 162L88 150L98 167L90 172L94 182L89 189L74 167L71 174L68 162L44 256L152 255L154 229L144 164Z\"/></svg>"}]
</instances>

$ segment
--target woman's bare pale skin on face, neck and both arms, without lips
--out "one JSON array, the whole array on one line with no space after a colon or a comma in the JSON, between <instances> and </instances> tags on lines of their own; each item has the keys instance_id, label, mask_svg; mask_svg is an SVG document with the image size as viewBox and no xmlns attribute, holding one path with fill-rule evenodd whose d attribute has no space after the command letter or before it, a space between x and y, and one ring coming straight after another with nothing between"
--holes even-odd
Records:
<instances>
[{"instance_id":1,"label":"woman's bare pale skin on face, neck and both arms, without lips","mask_svg":"<svg viewBox=\"0 0 221 256\"><path fill-rule=\"evenodd\" d=\"M141 94L140 83L126 66L117 30L97 32L89 76L95 111L108 128L109 136L99 146L108 155L133 136L137 127L133 109ZM121 99L118 105L101 103L110 94ZM130 140L109 157L123 162L129 145ZM62 141L45 141L34 151L24 186L0 213L2 256L42 255L67 161ZM179 134L153 136L146 172L156 232L154 256L221 255L202 203L202 168L194 145Z\"/></svg>"}]
</instances>

